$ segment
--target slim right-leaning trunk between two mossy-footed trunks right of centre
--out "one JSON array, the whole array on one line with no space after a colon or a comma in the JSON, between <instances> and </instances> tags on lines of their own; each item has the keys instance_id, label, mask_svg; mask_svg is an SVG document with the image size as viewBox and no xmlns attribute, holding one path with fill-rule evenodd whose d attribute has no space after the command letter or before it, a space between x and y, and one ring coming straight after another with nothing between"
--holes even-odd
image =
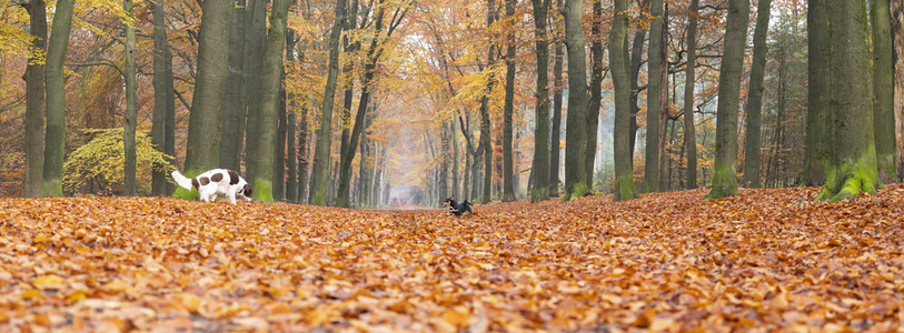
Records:
<instances>
[{"instance_id":1,"label":"slim right-leaning trunk between two mossy-footed trunks right of centre","mask_svg":"<svg viewBox=\"0 0 904 333\"><path fill-rule=\"evenodd\" d=\"M593 42L590 43L590 101L587 109L587 143L584 157L584 173L587 178L587 189L594 189L594 162L596 161L596 134L599 127L599 107L603 101L603 2L594 1L594 21L590 28Z\"/></svg>"}]
</instances>

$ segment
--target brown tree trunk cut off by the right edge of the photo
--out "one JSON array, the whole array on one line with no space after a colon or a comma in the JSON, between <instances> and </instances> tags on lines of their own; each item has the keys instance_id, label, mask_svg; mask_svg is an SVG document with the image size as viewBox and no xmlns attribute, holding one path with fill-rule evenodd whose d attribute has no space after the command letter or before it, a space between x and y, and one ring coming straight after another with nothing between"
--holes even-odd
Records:
<instances>
[{"instance_id":1,"label":"brown tree trunk cut off by the right edge of the photo","mask_svg":"<svg viewBox=\"0 0 904 333\"><path fill-rule=\"evenodd\" d=\"M904 181L904 1L892 0L892 36L894 59L894 105L895 141L897 155L897 179Z\"/></svg>"}]
</instances>

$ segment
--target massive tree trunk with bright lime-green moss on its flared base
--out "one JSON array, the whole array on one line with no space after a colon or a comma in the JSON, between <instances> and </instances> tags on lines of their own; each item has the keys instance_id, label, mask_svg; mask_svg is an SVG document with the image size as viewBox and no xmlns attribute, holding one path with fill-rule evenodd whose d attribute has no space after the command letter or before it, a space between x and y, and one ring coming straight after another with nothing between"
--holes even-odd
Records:
<instances>
[{"instance_id":1,"label":"massive tree trunk with bright lime-green moss on its flared base","mask_svg":"<svg viewBox=\"0 0 904 333\"><path fill-rule=\"evenodd\" d=\"M818 6L822 1L813 1ZM832 160L816 200L845 200L881 185L873 132L866 3L825 0Z\"/></svg>"}]
</instances>

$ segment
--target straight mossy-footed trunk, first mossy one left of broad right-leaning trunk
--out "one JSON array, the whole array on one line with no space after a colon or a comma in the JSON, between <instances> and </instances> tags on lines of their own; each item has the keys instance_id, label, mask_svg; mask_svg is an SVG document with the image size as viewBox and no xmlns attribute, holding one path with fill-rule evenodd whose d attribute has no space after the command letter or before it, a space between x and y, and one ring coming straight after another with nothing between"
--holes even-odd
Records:
<instances>
[{"instance_id":1,"label":"straight mossy-footed trunk, first mossy one left of broad right-leaning trunk","mask_svg":"<svg viewBox=\"0 0 904 333\"><path fill-rule=\"evenodd\" d=\"M615 87L615 201L637 196L634 186L630 154L630 79L627 52L627 0L615 0L609 31L609 65Z\"/></svg>"}]
</instances>

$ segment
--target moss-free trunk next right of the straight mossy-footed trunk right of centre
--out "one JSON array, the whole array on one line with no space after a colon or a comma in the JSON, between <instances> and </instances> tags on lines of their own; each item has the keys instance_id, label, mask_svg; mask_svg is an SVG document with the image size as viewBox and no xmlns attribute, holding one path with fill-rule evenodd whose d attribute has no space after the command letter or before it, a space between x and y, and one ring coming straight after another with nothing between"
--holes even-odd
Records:
<instances>
[{"instance_id":1,"label":"moss-free trunk next right of the straight mossy-footed trunk right of centre","mask_svg":"<svg viewBox=\"0 0 904 333\"><path fill-rule=\"evenodd\" d=\"M646 153L644 164L644 192L659 191L659 113L663 107L662 91L668 89L663 87L662 75L664 67L663 60L663 0L653 0L649 7L649 14L653 17L653 24L649 29L649 53L647 62L647 73L649 83L647 89L647 135Z\"/></svg>"}]
</instances>

